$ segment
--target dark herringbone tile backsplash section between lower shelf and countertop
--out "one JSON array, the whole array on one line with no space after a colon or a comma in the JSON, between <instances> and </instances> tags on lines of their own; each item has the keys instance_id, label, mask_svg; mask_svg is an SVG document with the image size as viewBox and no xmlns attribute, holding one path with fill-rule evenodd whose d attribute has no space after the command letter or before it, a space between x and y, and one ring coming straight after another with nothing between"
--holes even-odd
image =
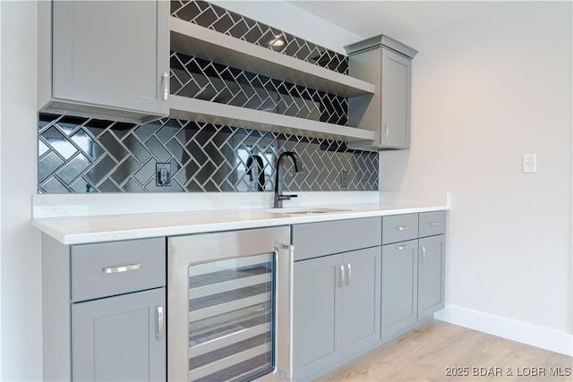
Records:
<instances>
[{"instance_id":1,"label":"dark herringbone tile backsplash section between lower shelf and countertop","mask_svg":"<svg viewBox=\"0 0 573 382\"><path fill-rule=\"evenodd\" d=\"M377 153L332 140L175 119L133 124L47 114L39 115L38 137L45 193L272 191L283 151L298 153L304 166L287 169L287 191L378 190ZM171 186L156 186L156 163L171 164Z\"/></svg>"}]
</instances>

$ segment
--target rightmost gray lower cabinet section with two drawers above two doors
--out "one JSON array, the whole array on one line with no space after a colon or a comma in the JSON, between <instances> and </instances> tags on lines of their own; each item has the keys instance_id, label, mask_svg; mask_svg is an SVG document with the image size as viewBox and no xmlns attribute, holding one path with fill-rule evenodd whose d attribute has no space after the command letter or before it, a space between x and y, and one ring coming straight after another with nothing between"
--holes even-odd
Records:
<instances>
[{"instance_id":1,"label":"rightmost gray lower cabinet section with two drawers above two doors","mask_svg":"<svg viewBox=\"0 0 573 382\"><path fill-rule=\"evenodd\" d=\"M444 307L445 232L445 211L383 217L383 341Z\"/></svg>"}]
</instances>

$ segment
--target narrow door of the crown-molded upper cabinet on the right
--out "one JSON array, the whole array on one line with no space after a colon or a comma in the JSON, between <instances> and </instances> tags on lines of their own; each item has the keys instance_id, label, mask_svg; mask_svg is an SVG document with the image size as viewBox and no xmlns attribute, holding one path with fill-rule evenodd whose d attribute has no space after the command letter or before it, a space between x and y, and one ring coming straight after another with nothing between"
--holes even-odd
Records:
<instances>
[{"instance_id":1,"label":"narrow door of the crown-molded upper cabinet on the right","mask_svg":"<svg viewBox=\"0 0 573 382\"><path fill-rule=\"evenodd\" d=\"M381 144L409 149L412 61L382 49L381 66Z\"/></svg>"}]
</instances>

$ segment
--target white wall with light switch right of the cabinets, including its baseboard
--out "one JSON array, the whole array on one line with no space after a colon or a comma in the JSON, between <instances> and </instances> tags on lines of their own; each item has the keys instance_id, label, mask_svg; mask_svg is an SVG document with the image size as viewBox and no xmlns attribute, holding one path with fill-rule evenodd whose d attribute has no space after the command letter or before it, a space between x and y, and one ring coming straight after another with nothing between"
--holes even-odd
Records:
<instances>
[{"instance_id":1,"label":"white wall with light switch right of the cabinets, including its baseboard","mask_svg":"<svg viewBox=\"0 0 573 382\"><path fill-rule=\"evenodd\" d=\"M381 190L452 193L439 317L569 355L571 14L509 2L407 41L412 147L381 153Z\"/></svg>"}]
</instances>

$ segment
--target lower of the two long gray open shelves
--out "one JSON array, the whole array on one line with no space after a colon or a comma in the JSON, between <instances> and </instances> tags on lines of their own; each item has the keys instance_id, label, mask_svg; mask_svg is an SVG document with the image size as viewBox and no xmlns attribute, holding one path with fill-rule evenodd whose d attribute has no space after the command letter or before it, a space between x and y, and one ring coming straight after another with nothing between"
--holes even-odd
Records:
<instances>
[{"instance_id":1,"label":"lower of the two long gray open shelves","mask_svg":"<svg viewBox=\"0 0 573 382\"><path fill-rule=\"evenodd\" d=\"M169 96L170 117L200 123L230 125L245 129L280 132L327 140L360 142L374 140L374 132L333 123L278 115L239 106L181 96Z\"/></svg>"}]
</instances>

